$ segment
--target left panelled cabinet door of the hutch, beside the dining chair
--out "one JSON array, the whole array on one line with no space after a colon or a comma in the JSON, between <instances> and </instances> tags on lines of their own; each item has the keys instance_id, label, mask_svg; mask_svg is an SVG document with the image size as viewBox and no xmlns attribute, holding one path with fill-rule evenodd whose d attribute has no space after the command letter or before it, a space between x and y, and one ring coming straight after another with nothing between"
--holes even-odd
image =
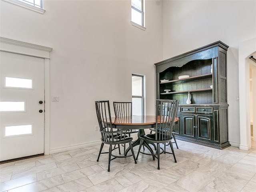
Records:
<instances>
[{"instance_id":1,"label":"left panelled cabinet door of the hutch, beside the dining chair","mask_svg":"<svg viewBox=\"0 0 256 192\"><path fill-rule=\"evenodd\" d=\"M183 122L183 136L186 137L194 137L196 138L196 134L194 131L194 126L196 126L196 115L194 114L182 114L182 122Z\"/></svg>"}]
</instances>

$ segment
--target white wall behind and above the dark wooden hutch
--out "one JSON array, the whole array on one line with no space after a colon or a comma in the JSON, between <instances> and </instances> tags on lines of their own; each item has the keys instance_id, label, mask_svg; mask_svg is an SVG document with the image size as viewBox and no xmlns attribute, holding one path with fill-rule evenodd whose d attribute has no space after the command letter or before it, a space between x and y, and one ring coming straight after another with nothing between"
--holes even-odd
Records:
<instances>
[{"instance_id":1,"label":"white wall behind and above the dark wooden hutch","mask_svg":"<svg viewBox=\"0 0 256 192\"><path fill-rule=\"evenodd\" d=\"M227 54L229 141L240 144L238 42L256 37L256 1L164 0L164 59L221 40ZM250 54L250 53L248 53Z\"/></svg>"}]
</instances>

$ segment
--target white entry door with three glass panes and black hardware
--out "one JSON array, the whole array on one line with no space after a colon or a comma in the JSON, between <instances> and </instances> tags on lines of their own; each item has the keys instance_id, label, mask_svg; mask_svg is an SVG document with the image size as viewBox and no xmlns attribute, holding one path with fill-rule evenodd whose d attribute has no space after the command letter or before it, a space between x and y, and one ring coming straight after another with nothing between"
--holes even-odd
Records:
<instances>
[{"instance_id":1,"label":"white entry door with three glass panes and black hardware","mask_svg":"<svg viewBox=\"0 0 256 192\"><path fill-rule=\"evenodd\" d=\"M44 153L44 59L0 52L0 161Z\"/></svg>"}]
</instances>

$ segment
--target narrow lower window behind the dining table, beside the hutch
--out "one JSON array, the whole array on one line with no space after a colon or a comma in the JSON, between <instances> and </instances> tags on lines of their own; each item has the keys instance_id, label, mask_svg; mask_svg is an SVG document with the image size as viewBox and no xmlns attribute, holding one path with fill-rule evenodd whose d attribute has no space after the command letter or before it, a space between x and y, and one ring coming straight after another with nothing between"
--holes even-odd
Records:
<instances>
[{"instance_id":1,"label":"narrow lower window behind the dining table, beside the hutch","mask_svg":"<svg viewBox=\"0 0 256 192\"><path fill-rule=\"evenodd\" d=\"M132 115L144 115L144 76L132 74Z\"/></svg>"}]
</instances>

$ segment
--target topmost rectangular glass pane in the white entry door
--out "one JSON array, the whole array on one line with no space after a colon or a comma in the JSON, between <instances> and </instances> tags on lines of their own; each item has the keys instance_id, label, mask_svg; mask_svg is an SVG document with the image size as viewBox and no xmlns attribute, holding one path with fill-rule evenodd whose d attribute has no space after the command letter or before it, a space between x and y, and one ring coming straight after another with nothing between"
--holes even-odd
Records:
<instances>
[{"instance_id":1,"label":"topmost rectangular glass pane in the white entry door","mask_svg":"<svg viewBox=\"0 0 256 192\"><path fill-rule=\"evenodd\" d=\"M5 78L5 87L32 89L32 79L6 77Z\"/></svg>"}]
</instances>

